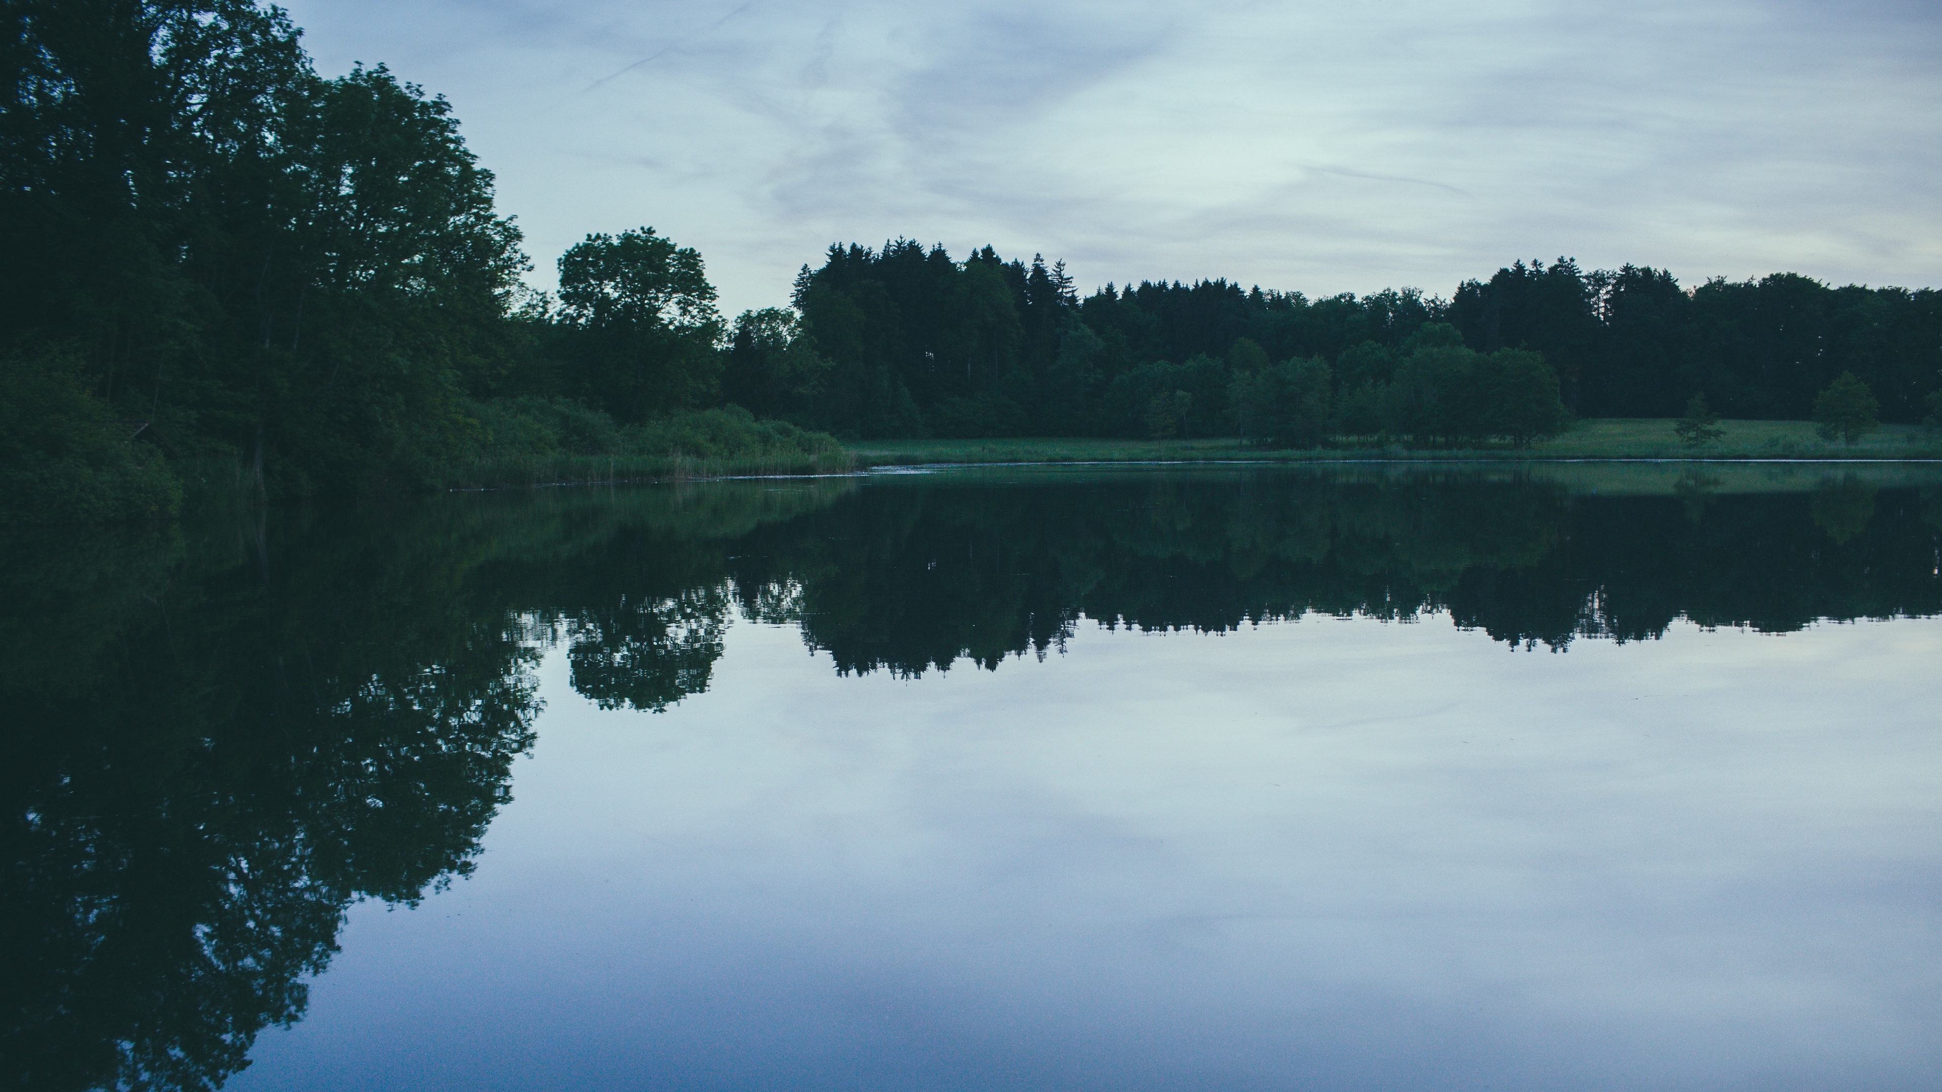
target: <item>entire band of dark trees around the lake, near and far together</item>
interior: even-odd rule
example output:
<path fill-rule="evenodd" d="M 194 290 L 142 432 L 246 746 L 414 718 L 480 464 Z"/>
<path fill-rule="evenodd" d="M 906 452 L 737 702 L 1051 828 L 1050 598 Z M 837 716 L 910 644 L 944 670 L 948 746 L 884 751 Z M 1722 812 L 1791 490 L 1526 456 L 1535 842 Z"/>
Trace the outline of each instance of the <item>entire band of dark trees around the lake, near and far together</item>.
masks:
<path fill-rule="evenodd" d="M 823 468 L 864 437 L 1515 449 L 1695 396 L 1808 418 L 1837 381 L 1880 420 L 1942 418 L 1938 293 L 1798 274 L 1686 288 L 1559 258 L 1447 299 L 1082 295 L 1062 262 L 895 239 L 831 245 L 788 307 L 728 321 L 695 249 L 616 225 L 536 291 L 452 105 L 383 64 L 320 76 L 284 12 L 17 0 L 0 19 L 10 521 L 165 517 L 210 482 L 274 499 L 629 459 Z"/>

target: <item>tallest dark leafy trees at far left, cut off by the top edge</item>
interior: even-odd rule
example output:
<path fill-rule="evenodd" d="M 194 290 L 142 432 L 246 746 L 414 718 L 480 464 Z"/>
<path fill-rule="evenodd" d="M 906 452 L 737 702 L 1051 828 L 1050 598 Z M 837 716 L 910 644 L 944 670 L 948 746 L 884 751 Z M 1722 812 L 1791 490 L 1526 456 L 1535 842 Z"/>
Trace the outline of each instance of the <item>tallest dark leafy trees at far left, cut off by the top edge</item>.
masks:
<path fill-rule="evenodd" d="M 0 101 L 0 317 L 103 418 L 260 480 L 412 480 L 505 365 L 524 266 L 443 99 L 318 78 L 245 0 L 19 0 Z M 14 394 L 6 394 L 14 396 Z M 25 412 L 31 412 L 27 408 Z"/>

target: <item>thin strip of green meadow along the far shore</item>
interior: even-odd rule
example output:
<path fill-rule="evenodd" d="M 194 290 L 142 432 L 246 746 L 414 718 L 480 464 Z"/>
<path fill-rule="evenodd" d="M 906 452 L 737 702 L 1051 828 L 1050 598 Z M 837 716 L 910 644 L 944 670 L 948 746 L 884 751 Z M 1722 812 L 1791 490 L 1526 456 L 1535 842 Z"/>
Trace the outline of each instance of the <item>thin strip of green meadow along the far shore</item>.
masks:
<path fill-rule="evenodd" d="M 1882 426 L 1845 447 L 1824 441 L 1812 422 L 1721 422 L 1726 435 L 1690 449 L 1672 433 L 1670 418 L 1600 418 L 1577 422 L 1565 435 L 1517 451 L 1404 449 L 1354 439 L 1330 447 L 1274 451 L 1231 437 L 1216 439 L 870 439 L 849 445 L 858 466 L 921 466 L 928 462 L 1317 462 L 1338 459 L 1942 459 L 1942 433 L 1919 426 Z"/>

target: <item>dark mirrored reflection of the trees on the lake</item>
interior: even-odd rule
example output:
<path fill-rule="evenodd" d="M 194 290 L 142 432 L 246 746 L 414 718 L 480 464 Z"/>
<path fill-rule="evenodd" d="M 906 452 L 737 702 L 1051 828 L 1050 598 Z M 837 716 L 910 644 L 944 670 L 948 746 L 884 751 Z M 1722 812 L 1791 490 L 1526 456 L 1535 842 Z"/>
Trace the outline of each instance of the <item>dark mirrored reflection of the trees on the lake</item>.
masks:
<path fill-rule="evenodd" d="M 1043 657 L 1082 620 L 1311 610 L 1565 649 L 1682 616 L 1938 614 L 1938 492 L 1895 478 L 1373 470 L 746 482 L 14 540 L 0 1053 L 35 1088 L 218 1084 L 301 1016 L 352 902 L 472 869 L 552 647 L 581 696 L 653 711 L 711 686 L 736 610 L 903 676 Z"/>

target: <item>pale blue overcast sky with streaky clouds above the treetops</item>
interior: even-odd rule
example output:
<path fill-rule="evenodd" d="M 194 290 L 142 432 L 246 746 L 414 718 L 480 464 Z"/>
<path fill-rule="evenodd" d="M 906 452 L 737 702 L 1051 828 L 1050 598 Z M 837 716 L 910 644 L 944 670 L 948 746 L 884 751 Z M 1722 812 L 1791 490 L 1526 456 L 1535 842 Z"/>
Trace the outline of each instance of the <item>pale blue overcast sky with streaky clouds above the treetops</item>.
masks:
<path fill-rule="evenodd" d="M 318 70 L 447 95 L 534 284 L 651 223 L 722 311 L 833 241 L 1086 290 L 1311 295 L 1513 258 L 1942 284 L 1942 0 L 297 0 Z"/>

